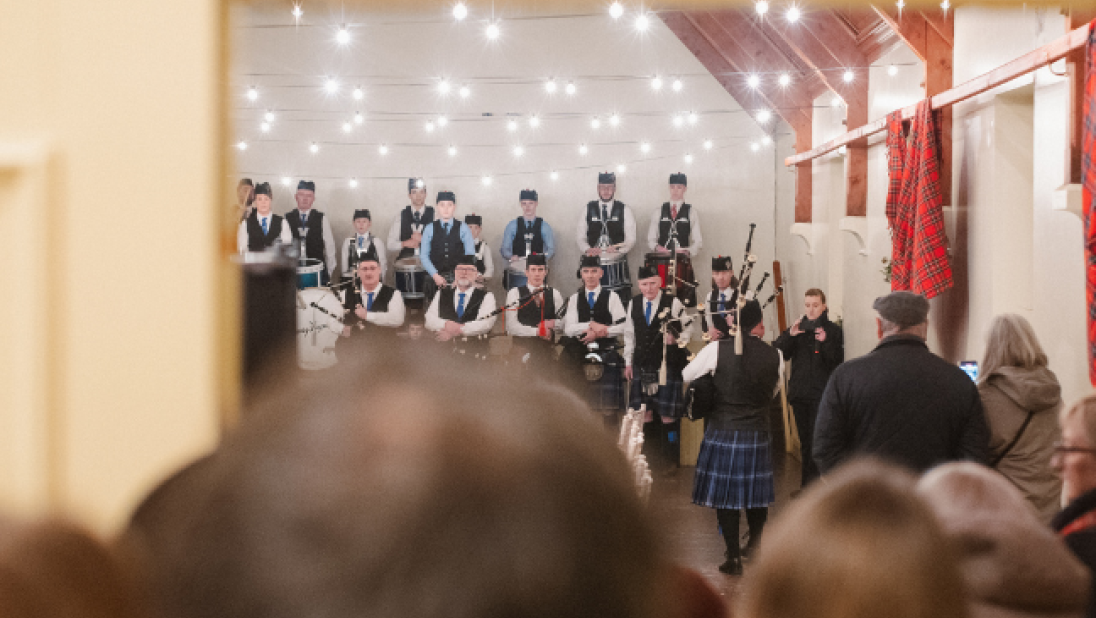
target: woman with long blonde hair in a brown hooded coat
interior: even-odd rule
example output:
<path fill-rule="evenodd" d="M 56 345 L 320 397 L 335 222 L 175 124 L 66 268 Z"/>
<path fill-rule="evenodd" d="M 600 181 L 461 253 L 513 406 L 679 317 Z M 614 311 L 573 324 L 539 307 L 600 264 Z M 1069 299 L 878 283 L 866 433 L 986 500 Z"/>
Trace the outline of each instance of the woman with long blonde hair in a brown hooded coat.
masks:
<path fill-rule="evenodd" d="M 1058 440 L 1062 388 L 1031 324 L 1004 313 L 990 323 L 978 379 L 990 426 L 990 464 L 1013 482 L 1046 524 L 1061 506 L 1050 467 Z"/>

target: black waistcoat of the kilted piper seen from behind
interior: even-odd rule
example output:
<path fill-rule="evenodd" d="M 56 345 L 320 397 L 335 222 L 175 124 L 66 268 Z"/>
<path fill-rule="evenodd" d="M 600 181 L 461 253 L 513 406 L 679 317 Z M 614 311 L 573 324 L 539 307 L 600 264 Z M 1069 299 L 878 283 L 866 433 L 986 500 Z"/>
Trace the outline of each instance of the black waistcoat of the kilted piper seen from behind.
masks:
<path fill-rule="evenodd" d="M 742 356 L 739 356 L 734 354 L 734 337 L 721 340 L 716 365 L 712 426 L 767 432 L 768 408 L 779 371 L 780 353 L 764 341 L 745 335 Z"/>

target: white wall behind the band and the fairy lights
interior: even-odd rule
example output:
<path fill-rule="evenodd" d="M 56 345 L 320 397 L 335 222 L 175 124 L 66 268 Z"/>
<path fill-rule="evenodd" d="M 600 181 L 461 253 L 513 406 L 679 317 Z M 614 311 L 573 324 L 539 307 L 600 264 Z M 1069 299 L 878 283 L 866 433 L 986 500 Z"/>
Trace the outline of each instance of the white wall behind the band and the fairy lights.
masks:
<path fill-rule="evenodd" d="M 760 263 L 764 270 L 772 264 L 775 174 L 780 168 L 776 151 L 772 146 L 751 151 L 750 144 L 760 140 L 762 129 L 658 20 L 644 35 L 637 34 L 630 21 L 616 23 L 607 15 L 504 21 L 503 36 L 489 45 L 475 15 L 460 24 L 452 19 L 412 24 L 399 15 L 347 14 L 346 22 L 363 25 L 352 28 L 350 49 L 339 49 L 333 27 L 342 18 L 311 18 L 310 22 L 306 14 L 302 23 L 324 26 L 249 27 L 288 24 L 292 18 L 287 11 L 260 9 L 236 13 L 237 130 L 249 144 L 238 152 L 238 168 L 256 182 L 275 183 L 276 211 L 293 207 L 297 179 L 312 179 L 317 207 L 333 217 L 340 241 L 351 231 L 353 209 L 362 207 L 372 210 L 374 231 L 387 234 L 408 203 L 407 178 L 422 175 L 427 203 L 438 190 L 449 188 L 457 193 L 458 216 L 469 211 L 483 216 L 483 237 L 496 252 L 506 221 L 520 215 L 518 192 L 536 188 L 539 215 L 557 234 L 550 282 L 570 289 L 578 285 L 575 229 L 585 203 L 596 198 L 596 174 L 625 162 L 618 197 L 635 210 L 641 239 L 629 255 L 633 275 L 648 251 L 650 217 L 669 198 L 667 179 L 677 171 L 688 174 L 687 199 L 701 213 L 705 249 L 696 264 L 705 287 L 712 255 L 730 254 L 739 265 L 750 222 L 758 226 L 754 252 Z M 324 96 L 318 76 L 326 73 L 340 76 L 342 94 Z M 647 79 L 590 78 L 655 73 L 684 76 L 684 90 L 670 91 L 669 79 L 657 93 Z M 426 83 L 435 76 L 446 76 L 455 85 L 467 81 L 471 96 L 461 101 L 425 85 L 407 85 Z M 527 83 L 488 84 L 475 79 L 510 76 Z M 548 95 L 543 88 L 548 76 L 557 76 L 561 87 L 575 79 L 578 94 Z M 365 85 L 366 96 L 355 104 L 350 87 L 356 83 Z M 256 103 L 243 96 L 252 84 L 261 92 Z M 267 108 L 276 111 L 277 119 L 263 136 L 258 127 Z M 344 135 L 341 125 L 355 110 L 364 112 L 366 121 Z M 700 112 L 696 126 L 672 125 L 673 113 L 693 110 Z M 612 112 L 623 114 L 615 129 L 604 123 Z M 423 125 L 429 115 L 442 113 L 450 118 L 448 126 L 427 134 Z M 484 118 L 484 113 L 494 116 Z M 532 113 L 544 118 L 537 129 L 525 124 Z M 523 115 L 516 134 L 506 130 L 505 114 Z M 604 123 L 596 131 L 590 127 L 595 114 Z M 715 142 L 711 151 L 701 147 L 706 138 Z M 313 140 L 323 142 L 315 156 L 307 149 Z M 649 154 L 636 144 L 615 145 L 640 140 L 652 144 Z M 581 142 L 591 145 L 586 157 L 578 153 Z M 391 145 L 387 157 L 378 154 L 378 144 Z M 459 150 L 456 158 L 446 152 L 449 144 Z M 526 149 L 521 159 L 511 152 L 516 144 Z M 683 160 L 686 152 L 695 156 L 692 164 Z M 549 179 L 549 170 L 560 171 L 558 181 Z M 481 183 L 483 174 L 493 175 L 490 186 Z M 277 184 L 282 176 L 293 178 L 293 186 Z M 351 178 L 361 183 L 356 190 L 349 187 Z M 498 254 L 495 262 L 496 266 L 501 262 Z M 501 281 L 493 287 L 501 290 Z"/>

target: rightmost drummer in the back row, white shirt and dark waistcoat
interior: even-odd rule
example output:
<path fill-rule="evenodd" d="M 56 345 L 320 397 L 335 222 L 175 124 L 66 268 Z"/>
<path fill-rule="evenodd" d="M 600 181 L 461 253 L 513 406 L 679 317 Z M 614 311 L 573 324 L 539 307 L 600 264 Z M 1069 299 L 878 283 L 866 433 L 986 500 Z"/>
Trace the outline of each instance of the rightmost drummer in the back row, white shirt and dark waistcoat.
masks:
<path fill-rule="evenodd" d="M 670 202 L 651 217 L 647 242 L 651 250 L 662 254 L 676 254 L 677 268 L 673 274 L 660 273 L 666 286 L 677 289 L 677 297 L 687 307 L 696 305 L 696 277 L 693 275 L 693 256 L 700 252 L 700 215 L 696 207 L 685 203 L 688 179 L 678 172 L 670 174 Z M 672 281 L 671 277 L 682 281 Z"/>

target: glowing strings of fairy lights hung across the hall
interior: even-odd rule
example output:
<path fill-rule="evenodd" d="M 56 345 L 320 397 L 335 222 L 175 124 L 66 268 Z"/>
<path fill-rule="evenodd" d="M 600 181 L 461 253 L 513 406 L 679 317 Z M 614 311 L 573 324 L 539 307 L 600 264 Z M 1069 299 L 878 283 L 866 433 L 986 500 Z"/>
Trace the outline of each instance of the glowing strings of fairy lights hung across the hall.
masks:
<path fill-rule="evenodd" d="M 897 0 L 897 5 L 899 13 L 901 14 L 904 8 L 904 0 Z M 940 4 L 941 9 L 946 12 L 949 8 L 949 0 L 944 0 Z M 768 0 L 756 0 L 754 2 L 754 9 L 757 14 L 757 19 L 764 20 L 768 19 L 773 7 Z M 471 16 L 471 9 L 464 2 L 457 2 L 452 8 L 452 19 L 456 22 L 463 22 Z M 614 1 L 608 7 L 608 16 L 614 21 L 620 21 L 625 19 L 627 11 L 619 1 Z M 301 24 L 301 20 L 305 15 L 304 7 L 300 3 L 295 3 L 290 11 L 293 16 L 293 24 L 259 24 L 251 25 L 248 27 L 258 28 L 272 28 L 272 27 L 310 27 L 310 28 L 332 28 L 334 42 L 339 47 L 347 47 L 354 41 L 356 34 L 355 32 L 361 32 L 366 25 L 386 25 L 385 22 L 377 22 L 370 24 L 362 23 L 341 23 L 334 26 L 331 25 L 310 25 Z M 633 11 L 631 19 L 633 20 L 635 30 L 639 33 L 648 32 L 652 26 L 652 20 L 655 16 L 655 12 L 648 11 L 646 9 L 640 9 Z M 803 9 L 796 3 L 788 3 L 785 7 L 784 19 L 788 24 L 796 24 L 803 16 Z M 604 19 L 604 14 L 575 14 L 575 15 L 550 15 L 550 16 L 535 16 L 535 18 L 510 18 L 507 20 L 502 20 L 495 18 L 492 14 L 490 16 L 484 15 L 481 19 L 483 24 L 483 36 L 489 42 L 499 41 L 504 33 L 505 22 L 509 21 L 525 21 L 525 20 L 541 20 L 541 19 L 559 19 L 559 18 L 601 18 Z M 414 23 L 436 23 L 437 20 L 425 20 L 422 22 Z M 396 22 L 401 25 L 406 25 L 409 22 Z M 900 67 L 907 66 L 901 64 L 890 64 L 886 66 L 881 65 L 869 65 L 867 67 L 837 67 L 837 68 L 820 68 L 812 69 L 814 73 L 835 73 L 832 79 L 841 79 L 845 83 L 850 83 L 857 79 L 857 75 L 863 75 L 866 70 L 878 70 L 886 71 L 889 77 L 894 77 L 899 73 Z M 484 148 L 509 148 L 513 158 L 521 159 L 526 154 L 528 150 L 532 149 L 547 149 L 547 148 L 568 148 L 573 149 L 580 157 L 586 158 L 591 154 L 592 149 L 602 149 L 604 147 L 620 147 L 628 146 L 633 147 L 637 152 L 637 159 L 627 162 L 617 163 L 615 167 L 618 172 L 624 172 L 629 163 L 640 163 L 644 161 L 653 161 L 667 159 L 672 156 L 652 156 L 659 147 L 665 147 L 667 145 L 673 146 L 685 146 L 685 151 L 683 153 L 676 154 L 681 157 L 685 163 L 692 163 L 694 160 L 693 150 L 698 152 L 710 152 L 718 150 L 726 150 L 733 146 L 738 146 L 742 142 L 747 142 L 749 148 L 753 152 L 758 152 L 763 148 L 768 147 L 773 144 L 774 136 L 776 136 L 776 129 L 770 124 L 774 117 L 783 112 L 779 107 L 760 107 L 755 110 L 712 110 L 712 111 L 697 111 L 689 110 L 682 105 L 680 111 L 666 113 L 664 111 L 657 112 L 629 112 L 621 113 L 617 111 L 608 111 L 603 113 L 582 113 L 582 112 L 562 112 L 562 113 L 527 113 L 527 114 L 445 114 L 445 113 L 426 113 L 426 112 L 393 112 L 393 111 L 369 111 L 368 118 L 366 113 L 361 111 L 361 106 L 364 105 L 367 99 L 367 92 L 370 90 L 380 89 L 432 89 L 437 96 L 442 99 L 454 98 L 456 100 L 469 100 L 473 96 L 476 89 L 480 87 L 493 87 L 493 85 L 507 85 L 507 87 L 533 87 L 543 89 L 544 93 L 549 98 L 562 96 L 569 100 L 580 95 L 580 87 L 583 83 L 593 84 L 597 82 L 642 82 L 649 83 L 651 91 L 653 92 L 666 92 L 671 94 L 681 95 L 684 93 L 686 88 L 686 82 L 693 79 L 711 79 L 713 73 L 673 73 L 673 75 L 587 75 L 587 76 L 544 76 L 540 78 L 530 78 L 529 76 L 478 76 L 478 77 L 464 77 L 460 79 L 453 79 L 447 76 L 438 76 L 433 78 L 418 78 L 408 79 L 401 76 L 376 76 L 376 75 L 344 75 L 344 76 L 313 76 L 304 73 L 272 73 L 272 72 L 252 72 L 252 73 L 241 73 L 240 78 L 251 81 L 251 85 L 248 85 L 243 98 L 247 103 L 242 107 L 248 112 L 261 111 L 262 116 L 259 122 L 259 134 L 258 139 L 261 144 L 289 144 L 298 145 L 298 147 L 307 149 L 307 152 L 311 154 L 317 154 L 321 149 L 324 148 L 342 148 L 342 147 L 366 147 L 375 148 L 378 156 L 385 157 L 392 152 L 393 149 L 404 149 L 404 148 L 444 148 L 446 154 L 449 158 L 457 157 L 461 150 L 465 149 L 484 149 Z M 721 72 L 715 75 L 717 78 L 731 78 L 731 79 L 742 79 L 752 90 L 762 90 L 765 88 L 779 88 L 787 89 L 794 85 L 796 78 L 787 71 L 741 71 L 741 72 Z M 278 83 L 266 83 L 260 88 L 256 81 L 278 81 Z M 368 85 L 366 85 L 368 84 Z M 342 98 L 343 100 L 349 99 L 355 110 L 352 113 L 339 112 L 339 111 L 318 111 L 318 110 L 296 110 L 292 107 L 278 108 L 277 106 L 264 106 L 264 99 L 266 95 L 264 93 L 274 93 L 277 91 L 294 91 L 294 90 L 313 90 L 322 93 L 327 98 Z M 271 99 L 273 100 L 273 95 Z M 832 107 L 844 106 L 844 101 L 841 96 L 835 95 L 831 100 Z M 562 144 L 562 142 L 530 142 L 530 144 L 517 144 L 517 145 L 498 145 L 498 144 L 456 144 L 450 142 L 448 145 L 438 145 L 434 142 L 414 142 L 414 141 L 403 141 L 403 142 L 388 142 L 388 141 L 369 141 L 369 140 L 351 140 L 347 141 L 346 138 L 352 138 L 352 136 L 359 130 L 363 125 L 367 122 L 373 123 L 421 123 L 423 133 L 432 138 L 436 138 L 442 135 L 445 129 L 450 124 L 460 123 L 490 123 L 500 125 L 502 128 L 500 130 L 505 131 L 504 135 L 515 136 L 520 130 L 525 129 L 530 134 L 537 129 L 541 129 L 546 124 L 560 123 L 560 122 L 585 122 L 589 123 L 589 127 L 593 131 L 613 131 L 621 127 L 628 121 L 639 121 L 638 124 L 648 125 L 652 118 L 662 117 L 664 122 L 669 123 L 675 129 L 687 130 L 696 127 L 700 124 L 701 117 L 718 116 L 718 115 L 742 115 L 750 114 L 754 121 L 762 128 L 762 135 L 757 136 L 722 136 L 722 137 L 688 137 L 682 139 L 669 139 L 669 140 L 613 140 L 613 141 L 581 141 L 578 144 Z M 288 116 L 288 118 L 287 118 Z M 332 117 L 334 116 L 334 117 Z M 253 117 L 241 118 L 242 125 L 247 126 L 246 123 L 254 122 Z M 343 135 L 343 140 L 323 140 L 315 139 L 305 142 L 299 142 L 297 140 L 284 140 L 275 139 L 272 137 L 272 133 L 275 129 L 275 125 L 278 123 L 312 123 L 316 125 L 338 125 L 341 134 Z M 726 144 L 726 142 L 732 144 Z M 717 145 L 719 142 L 719 145 Z M 248 150 L 251 146 L 248 139 L 241 138 L 235 145 L 240 151 Z M 583 170 L 591 168 L 598 168 L 602 165 L 587 165 L 580 164 L 574 167 L 574 170 Z M 612 168 L 608 165 L 607 168 Z M 503 175 L 514 175 L 517 173 L 529 174 L 529 173 L 547 173 L 552 180 L 557 180 L 559 176 L 560 169 L 544 170 L 540 172 L 513 172 L 496 174 Z M 380 176 L 378 176 L 379 179 Z M 457 175 L 452 178 L 470 178 L 467 175 Z M 490 184 L 491 175 L 483 175 L 483 184 Z M 330 180 L 330 179 L 329 179 Z M 362 180 L 365 180 L 364 178 Z M 357 186 L 358 179 L 350 179 L 349 184 Z"/>

